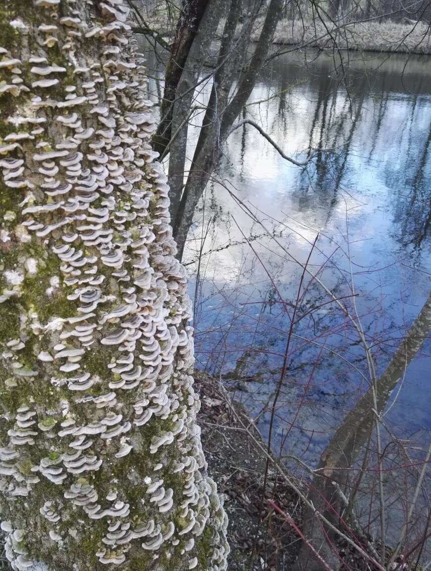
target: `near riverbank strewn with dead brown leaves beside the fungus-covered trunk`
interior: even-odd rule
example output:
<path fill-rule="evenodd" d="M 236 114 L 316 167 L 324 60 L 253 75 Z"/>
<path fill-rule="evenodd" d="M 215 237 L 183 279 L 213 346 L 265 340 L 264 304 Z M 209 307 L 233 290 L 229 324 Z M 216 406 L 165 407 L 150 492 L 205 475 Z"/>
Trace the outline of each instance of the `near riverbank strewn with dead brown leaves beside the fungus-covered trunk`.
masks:
<path fill-rule="evenodd" d="M 195 372 L 195 391 L 201 401 L 198 423 L 208 473 L 217 482 L 229 518 L 229 571 L 288 569 L 295 561 L 299 538 L 267 500 L 299 522 L 299 498 L 270 468 L 262 504 L 266 460 L 260 446 L 265 449 L 266 444 L 260 433 L 223 385 L 199 371 Z M 296 478 L 295 483 L 303 485 Z M 261 506 L 262 521 L 256 534 Z"/>

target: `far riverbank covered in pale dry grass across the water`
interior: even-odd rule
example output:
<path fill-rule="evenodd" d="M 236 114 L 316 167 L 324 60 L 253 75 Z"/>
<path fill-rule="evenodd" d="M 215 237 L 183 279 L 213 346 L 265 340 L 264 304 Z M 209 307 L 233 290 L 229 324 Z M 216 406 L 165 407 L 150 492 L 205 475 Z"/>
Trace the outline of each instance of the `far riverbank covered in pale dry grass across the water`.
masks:
<path fill-rule="evenodd" d="M 217 38 L 223 34 L 224 21 L 217 29 Z M 263 19 L 256 21 L 251 40 L 259 39 Z M 172 37 L 174 27 L 167 21 L 156 19 L 150 22 L 151 30 Z M 148 34 L 149 29 L 134 28 L 136 33 Z M 237 26 L 236 35 L 241 31 Z M 368 21 L 333 26 L 331 22 L 307 20 L 281 20 L 276 27 L 273 44 L 279 46 L 318 47 L 323 50 L 374 51 L 380 53 L 431 54 L 431 28 L 426 22 L 398 23 L 392 21 Z"/>

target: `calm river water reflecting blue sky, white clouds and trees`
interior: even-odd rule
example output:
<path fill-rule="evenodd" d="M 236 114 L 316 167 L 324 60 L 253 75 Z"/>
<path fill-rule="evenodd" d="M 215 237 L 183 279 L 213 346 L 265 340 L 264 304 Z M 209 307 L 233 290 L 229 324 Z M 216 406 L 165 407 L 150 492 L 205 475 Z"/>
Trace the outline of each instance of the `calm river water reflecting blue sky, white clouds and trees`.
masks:
<path fill-rule="evenodd" d="M 157 67 L 154 54 L 148 67 Z M 428 296 L 431 60 L 352 53 L 345 70 L 342 82 L 332 58 L 313 53 L 285 55 L 265 69 L 244 116 L 287 155 L 305 160 L 309 147 L 317 151 L 308 168 L 299 168 L 253 127 L 233 132 L 217 174 L 224 186 L 207 189 L 184 255 L 195 299 L 197 366 L 235 389 L 264 435 L 269 413 L 262 411 L 280 378 L 292 316 L 280 299 L 295 301 L 302 270 L 292 257 L 305 263 L 317 232 L 308 267 L 339 297 L 352 295 L 353 276 L 378 371 Z M 198 103 L 210 85 L 200 89 Z M 150 90 L 156 96 L 160 85 L 151 81 Z M 189 155 L 196 132 L 191 129 Z M 273 447 L 315 464 L 367 388 L 367 372 L 364 351 L 336 304 L 326 303 L 309 278 L 301 292 Z M 393 393 L 388 439 L 411 437 L 423 447 L 429 438 L 430 349 L 425 343 Z"/>

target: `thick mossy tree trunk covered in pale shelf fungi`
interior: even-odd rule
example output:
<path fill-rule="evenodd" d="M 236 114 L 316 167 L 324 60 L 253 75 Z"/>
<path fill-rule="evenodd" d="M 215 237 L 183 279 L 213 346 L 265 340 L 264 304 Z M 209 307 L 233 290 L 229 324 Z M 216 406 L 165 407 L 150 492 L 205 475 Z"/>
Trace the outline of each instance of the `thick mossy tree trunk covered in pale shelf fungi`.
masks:
<path fill-rule="evenodd" d="M 219 570 L 192 329 L 123 0 L 0 0 L 0 520 L 13 569 Z"/>

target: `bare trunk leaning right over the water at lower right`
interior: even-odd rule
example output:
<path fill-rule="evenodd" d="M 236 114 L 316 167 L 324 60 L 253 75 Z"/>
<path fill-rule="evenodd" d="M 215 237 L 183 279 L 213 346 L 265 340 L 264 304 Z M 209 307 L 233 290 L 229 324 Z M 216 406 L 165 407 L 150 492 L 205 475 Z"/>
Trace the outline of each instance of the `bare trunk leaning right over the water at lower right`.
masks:
<path fill-rule="evenodd" d="M 390 393 L 396 387 L 398 381 L 405 372 L 406 367 L 419 351 L 422 343 L 431 329 L 431 293 L 425 301 L 419 315 L 413 321 L 410 329 L 394 352 L 388 367 L 376 381 L 376 402 L 377 412 L 380 413 L 385 408 Z M 355 460 L 364 451 L 366 443 L 376 422 L 376 412 L 374 412 L 373 388 L 360 398 L 355 408 L 343 420 L 335 435 L 329 441 L 320 457 L 318 468 L 310 486 L 309 500 L 315 508 L 323 514 L 333 525 L 339 525 L 339 514 L 343 509 L 340 502 L 338 488 L 343 493 L 348 487 L 347 468 L 351 467 Z M 333 509 L 330 509 L 332 506 Z M 339 559 L 328 545 L 322 526 L 316 521 L 311 509 L 305 509 L 303 533 L 308 541 L 311 541 L 314 548 L 327 563 L 336 569 Z M 325 533 L 332 540 L 333 533 L 325 529 Z M 307 571 L 320 571 L 323 565 L 313 557 L 307 545 L 303 545 L 300 550 L 296 569 L 307 569 Z"/>

